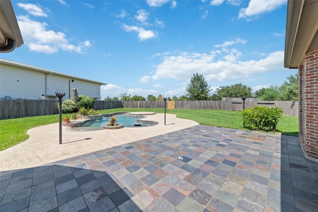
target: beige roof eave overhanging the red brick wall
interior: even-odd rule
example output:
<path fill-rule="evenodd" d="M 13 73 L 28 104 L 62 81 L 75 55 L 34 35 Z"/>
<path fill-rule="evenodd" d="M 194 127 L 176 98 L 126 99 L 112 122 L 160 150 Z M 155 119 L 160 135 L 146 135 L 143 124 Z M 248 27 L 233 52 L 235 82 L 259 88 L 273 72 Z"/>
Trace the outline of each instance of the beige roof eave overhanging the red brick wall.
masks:
<path fill-rule="evenodd" d="M 318 0 L 288 0 L 284 67 L 297 69 L 318 49 Z"/>

